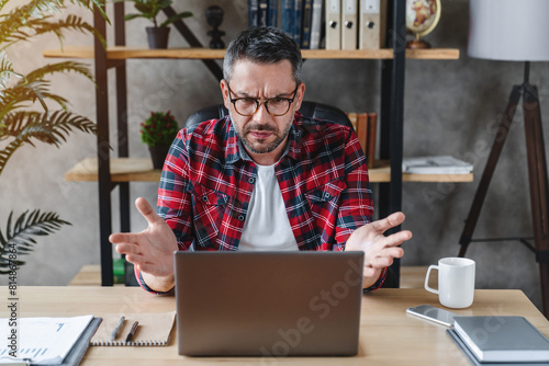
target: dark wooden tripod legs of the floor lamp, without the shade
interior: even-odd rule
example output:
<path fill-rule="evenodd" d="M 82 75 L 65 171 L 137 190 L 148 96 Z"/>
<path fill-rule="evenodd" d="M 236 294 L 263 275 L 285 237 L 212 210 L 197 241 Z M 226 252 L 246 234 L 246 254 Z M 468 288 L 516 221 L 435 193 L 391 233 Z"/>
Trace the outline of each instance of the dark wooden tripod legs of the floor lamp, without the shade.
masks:
<path fill-rule="evenodd" d="M 495 135 L 492 150 L 488 158 L 486 167 L 482 173 L 479 187 L 477 188 L 471 209 L 466 220 L 466 226 L 459 239 L 461 245 L 459 256 L 464 256 L 469 244 L 475 241 L 518 240 L 525 244 L 536 254 L 536 261 L 539 263 L 544 314 L 546 318 L 549 318 L 549 190 L 547 185 L 547 163 L 538 90 L 535 85 L 529 83 L 529 71 L 530 62 L 526 61 L 523 84 L 514 85 L 511 91 L 505 113 L 500 122 L 497 134 Z M 520 96 L 523 98 L 524 127 L 526 134 L 534 245 L 528 242 L 528 238 L 472 239 L 490 181 L 492 180 L 495 165 L 497 164 L 503 145 L 507 138 L 511 123 L 513 122 Z"/>

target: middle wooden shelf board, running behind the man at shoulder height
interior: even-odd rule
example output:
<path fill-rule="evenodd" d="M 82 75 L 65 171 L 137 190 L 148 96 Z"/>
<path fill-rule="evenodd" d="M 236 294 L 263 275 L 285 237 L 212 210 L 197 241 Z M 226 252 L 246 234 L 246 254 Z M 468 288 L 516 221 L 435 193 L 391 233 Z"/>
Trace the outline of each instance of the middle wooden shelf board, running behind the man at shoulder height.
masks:
<path fill-rule="evenodd" d="M 150 159 L 115 158 L 111 159 L 111 180 L 113 182 L 159 182 L 160 170 L 154 170 Z M 388 162 L 377 161 L 369 170 L 370 182 L 391 181 L 391 168 Z M 65 173 L 65 180 L 71 182 L 93 182 L 98 180 L 98 160 L 88 158 Z M 404 182 L 455 182 L 473 181 L 473 174 L 402 174 Z"/>

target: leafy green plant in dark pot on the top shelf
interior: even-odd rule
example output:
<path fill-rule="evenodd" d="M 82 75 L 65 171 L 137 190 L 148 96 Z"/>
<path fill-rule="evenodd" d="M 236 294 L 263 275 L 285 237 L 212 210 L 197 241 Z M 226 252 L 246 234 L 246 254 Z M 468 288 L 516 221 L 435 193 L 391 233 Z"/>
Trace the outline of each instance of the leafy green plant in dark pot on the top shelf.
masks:
<path fill-rule="evenodd" d="M 154 26 L 147 26 L 147 36 L 148 36 L 148 47 L 149 48 L 168 48 L 168 36 L 169 36 L 169 26 L 175 21 L 178 21 L 183 18 L 192 16 L 190 11 L 183 11 L 181 13 L 177 13 L 173 16 L 168 18 L 164 22 L 159 22 L 157 20 L 158 13 L 171 5 L 171 0 L 114 0 L 115 2 L 126 1 L 133 2 L 135 10 L 138 13 L 130 13 L 124 16 L 126 21 L 136 18 L 145 18 L 153 22 Z"/>

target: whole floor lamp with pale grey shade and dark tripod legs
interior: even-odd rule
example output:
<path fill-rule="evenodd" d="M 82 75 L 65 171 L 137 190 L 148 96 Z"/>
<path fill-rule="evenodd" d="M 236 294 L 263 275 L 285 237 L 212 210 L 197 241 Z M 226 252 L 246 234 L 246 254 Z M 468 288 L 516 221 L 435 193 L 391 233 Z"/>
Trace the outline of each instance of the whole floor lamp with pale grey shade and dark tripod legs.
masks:
<path fill-rule="evenodd" d="M 527 239 L 518 239 L 536 254 L 540 268 L 541 297 L 546 317 L 549 317 L 549 190 L 538 91 L 529 82 L 529 71 L 530 61 L 549 60 L 548 14 L 549 1 L 547 0 L 470 1 L 469 56 L 491 60 L 522 61 L 524 62 L 524 80 L 522 84 L 514 85 L 511 91 L 459 241 L 461 244 L 459 256 L 466 255 L 467 248 L 472 241 L 485 241 L 473 240 L 472 235 L 522 98 L 534 245 Z"/>

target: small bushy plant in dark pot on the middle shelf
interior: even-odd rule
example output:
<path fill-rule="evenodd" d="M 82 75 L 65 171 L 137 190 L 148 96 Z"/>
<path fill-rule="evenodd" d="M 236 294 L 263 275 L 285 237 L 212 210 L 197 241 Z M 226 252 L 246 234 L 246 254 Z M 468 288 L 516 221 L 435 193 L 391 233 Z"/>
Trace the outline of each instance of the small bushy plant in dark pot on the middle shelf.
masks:
<path fill-rule="evenodd" d="M 163 168 L 178 131 L 179 125 L 170 111 L 150 112 L 150 116 L 141 124 L 141 139 L 148 146 L 154 169 Z"/>

